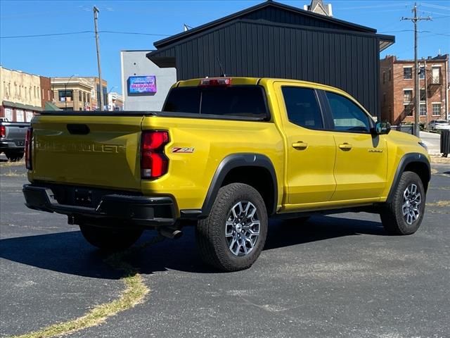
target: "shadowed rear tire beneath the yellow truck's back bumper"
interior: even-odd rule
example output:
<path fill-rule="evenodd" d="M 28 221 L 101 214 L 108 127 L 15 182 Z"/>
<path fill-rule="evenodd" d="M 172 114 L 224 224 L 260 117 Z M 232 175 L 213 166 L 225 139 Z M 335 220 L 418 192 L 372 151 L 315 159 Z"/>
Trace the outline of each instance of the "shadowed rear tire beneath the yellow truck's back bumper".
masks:
<path fill-rule="evenodd" d="M 120 251 L 133 245 L 143 232 L 142 229 L 123 229 L 96 227 L 94 225 L 79 225 L 84 238 L 98 249 L 105 251 Z"/>

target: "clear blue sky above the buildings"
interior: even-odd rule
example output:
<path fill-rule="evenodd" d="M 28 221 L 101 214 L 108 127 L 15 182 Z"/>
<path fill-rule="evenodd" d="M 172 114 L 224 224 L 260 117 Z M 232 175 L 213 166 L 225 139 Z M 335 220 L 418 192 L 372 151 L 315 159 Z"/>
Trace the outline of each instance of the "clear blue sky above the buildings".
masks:
<path fill-rule="evenodd" d="M 23 1 L 0 0 L 0 63 L 3 67 L 47 77 L 97 76 L 94 15 L 100 9 L 98 30 L 102 77 L 108 92 L 122 92 L 120 51 L 153 50 L 153 42 L 212 20 L 260 4 L 264 0 L 165 0 L 165 1 Z M 309 0 L 278 0 L 303 8 Z M 396 42 L 380 54 L 414 57 L 413 2 L 324 1 L 340 20 L 394 35 Z M 420 21 L 418 56 L 450 54 L 450 0 L 417 1 Z M 85 32 L 87 31 L 87 32 Z M 65 34 L 83 32 L 77 34 Z M 126 34 L 127 33 L 127 34 Z M 131 34 L 130 34 L 131 33 Z M 26 35 L 52 35 L 23 37 Z"/>

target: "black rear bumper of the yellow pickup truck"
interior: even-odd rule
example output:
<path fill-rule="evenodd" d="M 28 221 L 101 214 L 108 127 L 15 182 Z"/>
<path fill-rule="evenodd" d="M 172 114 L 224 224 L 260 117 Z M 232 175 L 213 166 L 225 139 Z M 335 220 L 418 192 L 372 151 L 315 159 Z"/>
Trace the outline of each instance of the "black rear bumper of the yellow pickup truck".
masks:
<path fill-rule="evenodd" d="M 70 189 L 70 192 L 77 192 L 75 188 L 67 189 Z M 65 194 L 70 192 L 65 192 Z M 58 196 L 58 189 L 51 189 L 50 187 L 25 184 L 23 194 L 25 205 L 28 208 L 49 213 L 62 213 L 72 217 L 75 223 L 80 219 L 89 219 L 91 222 L 118 219 L 143 227 L 164 227 L 173 225 L 176 221 L 174 201 L 167 196 L 102 194 L 98 199 L 94 198 L 94 201 L 98 201 L 94 203 L 94 206 L 79 206 L 72 203 L 58 203 L 58 199 L 61 199 Z"/>

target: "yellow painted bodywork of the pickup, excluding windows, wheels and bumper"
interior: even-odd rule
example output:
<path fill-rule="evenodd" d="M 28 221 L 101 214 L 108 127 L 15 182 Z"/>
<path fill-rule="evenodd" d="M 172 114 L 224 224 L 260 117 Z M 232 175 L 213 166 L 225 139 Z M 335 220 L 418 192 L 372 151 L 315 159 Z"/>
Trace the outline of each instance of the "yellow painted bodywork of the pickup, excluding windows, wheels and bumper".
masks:
<path fill-rule="evenodd" d="M 200 80 L 195 79 L 177 82 L 174 87 L 198 84 Z M 404 154 L 414 152 L 429 158 L 418 139 L 408 134 L 390 132 L 376 137 L 375 142 L 371 134 L 309 130 L 289 122 L 281 92 L 283 85 L 328 90 L 354 101 L 339 89 L 297 80 L 233 77 L 232 85 L 236 84 L 258 84 L 264 88 L 270 121 L 145 114 L 37 115 L 32 121 L 33 170 L 28 172 L 28 178 L 30 182 L 173 196 L 179 215 L 180 210 L 202 208 L 214 173 L 226 156 L 262 154 L 270 159 L 276 172 L 277 210 L 286 213 L 385 201 Z M 70 123 L 88 125 L 89 134 L 70 134 Z M 141 180 L 142 130 L 169 132 L 169 144 L 165 146 L 168 173 L 156 180 Z M 298 142 L 308 146 L 295 149 L 293 144 Z M 351 150 L 339 148 L 345 142 L 352 144 Z M 174 147 L 194 150 L 174 153 Z"/>

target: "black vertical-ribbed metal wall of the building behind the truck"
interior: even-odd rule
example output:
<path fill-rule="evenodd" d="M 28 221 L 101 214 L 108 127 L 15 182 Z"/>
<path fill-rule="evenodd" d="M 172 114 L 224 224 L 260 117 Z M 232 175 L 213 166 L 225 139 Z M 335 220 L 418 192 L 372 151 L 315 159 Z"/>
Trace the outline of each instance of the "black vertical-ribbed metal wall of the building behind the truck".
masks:
<path fill-rule="evenodd" d="M 236 22 L 188 39 L 160 55 L 176 57 L 179 80 L 219 76 L 219 57 L 229 75 L 330 84 L 378 114 L 379 47 L 375 35 Z"/>

